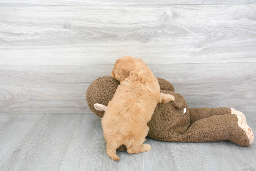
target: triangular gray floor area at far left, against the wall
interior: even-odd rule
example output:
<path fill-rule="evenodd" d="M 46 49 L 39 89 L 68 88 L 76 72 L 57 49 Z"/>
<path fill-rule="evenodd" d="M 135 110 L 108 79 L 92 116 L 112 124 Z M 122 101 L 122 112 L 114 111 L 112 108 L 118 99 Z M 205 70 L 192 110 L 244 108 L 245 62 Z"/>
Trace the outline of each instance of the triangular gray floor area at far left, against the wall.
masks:
<path fill-rule="evenodd" d="M 29 133 L 42 115 L 33 114 L 0 114 L 0 166 L 15 151 L 22 139 Z"/>

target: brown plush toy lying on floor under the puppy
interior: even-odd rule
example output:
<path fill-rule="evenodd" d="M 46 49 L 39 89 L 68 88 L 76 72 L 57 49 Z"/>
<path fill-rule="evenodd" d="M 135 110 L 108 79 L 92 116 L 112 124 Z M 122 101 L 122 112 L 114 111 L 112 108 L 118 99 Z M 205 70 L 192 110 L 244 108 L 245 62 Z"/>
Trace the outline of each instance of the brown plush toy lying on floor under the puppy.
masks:
<path fill-rule="evenodd" d="M 175 97 L 174 102 L 159 103 L 148 122 L 148 138 L 162 141 L 205 142 L 230 140 L 241 146 L 252 144 L 254 134 L 243 113 L 232 108 L 188 108 L 185 99 L 174 93 L 173 85 L 157 78 L 161 93 Z M 103 117 L 108 102 L 120 85 L 111 76 L 94 80 L 86 91 L 89 108 Z M 126 151 L 124 145 L 118 151 Z"/>

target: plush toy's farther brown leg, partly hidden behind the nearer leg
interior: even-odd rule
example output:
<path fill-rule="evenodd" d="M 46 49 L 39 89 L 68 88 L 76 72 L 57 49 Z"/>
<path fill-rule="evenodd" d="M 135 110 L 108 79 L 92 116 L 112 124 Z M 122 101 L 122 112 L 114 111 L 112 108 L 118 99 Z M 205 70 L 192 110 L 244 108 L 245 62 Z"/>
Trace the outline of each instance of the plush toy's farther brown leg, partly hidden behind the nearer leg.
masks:
<path fill-rule="evenodd" d="M 231 114 L 230 108 L 189 108 L 190 124 L 215 115 Z"/>

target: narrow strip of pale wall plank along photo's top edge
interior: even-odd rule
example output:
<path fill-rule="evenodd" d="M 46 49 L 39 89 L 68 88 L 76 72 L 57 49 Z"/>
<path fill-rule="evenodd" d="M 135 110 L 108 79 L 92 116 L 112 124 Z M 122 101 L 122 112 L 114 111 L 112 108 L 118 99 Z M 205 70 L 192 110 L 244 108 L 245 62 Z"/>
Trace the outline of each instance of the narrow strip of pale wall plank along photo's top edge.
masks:
<path fill-rule="evenodd" d="M 175 4 L 256 4 L 255 0 L 2 0 L 0 6 L 31 6 L 31 5 L 175 5 Z"/>

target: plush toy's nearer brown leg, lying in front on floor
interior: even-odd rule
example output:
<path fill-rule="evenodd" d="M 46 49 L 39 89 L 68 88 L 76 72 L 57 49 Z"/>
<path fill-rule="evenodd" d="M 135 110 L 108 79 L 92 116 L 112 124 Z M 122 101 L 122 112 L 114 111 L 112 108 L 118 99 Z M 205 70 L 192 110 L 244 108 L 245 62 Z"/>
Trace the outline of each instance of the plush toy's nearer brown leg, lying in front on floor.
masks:
<path fill-rule="evenodd" d="M 242 117 L 234 114 L 215 115 L 195 121 L 182 135 L 183 142 L 205 142 L 230 140 L 238 145 L 249 146 L 253 142 L 253 132 L 251 136 L 246 134 L 245 129 L 238 123 L 242 122 Z M 251 130 L 251 129 L 250 129 Z"/>

